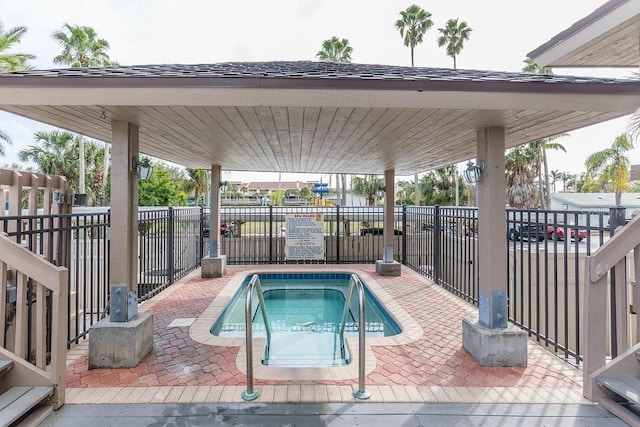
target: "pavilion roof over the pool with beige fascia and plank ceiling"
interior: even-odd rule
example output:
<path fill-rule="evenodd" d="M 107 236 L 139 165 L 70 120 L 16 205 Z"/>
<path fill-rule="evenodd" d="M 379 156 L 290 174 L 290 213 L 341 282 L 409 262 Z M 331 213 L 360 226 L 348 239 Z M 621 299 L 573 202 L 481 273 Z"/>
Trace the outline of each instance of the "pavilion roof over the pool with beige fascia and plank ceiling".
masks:
<path fill-rule="evenodd" d="M 278 64 L 290 73 L 5 74 L 0 109 L 107 142 L 112 120 L 129 121 L 141 152 L 192 168 L 411 175 L 475 157 L 480 128 L 504 126 L 510 147 L 640 107 L 634 81 L 357 64 L 312 76 L 326 66 Z"/>

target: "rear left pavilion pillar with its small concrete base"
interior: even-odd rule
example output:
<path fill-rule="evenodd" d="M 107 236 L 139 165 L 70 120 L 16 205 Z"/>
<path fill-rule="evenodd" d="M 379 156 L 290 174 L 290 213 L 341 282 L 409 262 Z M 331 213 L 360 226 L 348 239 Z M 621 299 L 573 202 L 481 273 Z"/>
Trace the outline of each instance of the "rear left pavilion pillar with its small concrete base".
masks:
<path fill-rule="evenodd" d="M 227 271 L 227 256 L 220 254 L 220 183 L 222 168 L 211 165 L 211 215 L 209 217 L 209 256 L 202 259 L 203 278 L 222 277 Z"/>

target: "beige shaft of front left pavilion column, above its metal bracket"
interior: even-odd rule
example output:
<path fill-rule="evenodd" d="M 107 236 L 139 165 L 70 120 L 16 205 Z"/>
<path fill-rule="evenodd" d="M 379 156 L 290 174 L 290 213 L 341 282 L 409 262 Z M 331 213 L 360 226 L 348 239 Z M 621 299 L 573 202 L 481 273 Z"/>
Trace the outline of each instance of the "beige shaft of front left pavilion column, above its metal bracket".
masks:
<path fill-rule="evenodd" d="M 138 156 L 138 126 L 111 122 L 113 167 L 111 172 L 111 263 L 112 284 L 137 289 L 138 179 L 133 159 Z"/>

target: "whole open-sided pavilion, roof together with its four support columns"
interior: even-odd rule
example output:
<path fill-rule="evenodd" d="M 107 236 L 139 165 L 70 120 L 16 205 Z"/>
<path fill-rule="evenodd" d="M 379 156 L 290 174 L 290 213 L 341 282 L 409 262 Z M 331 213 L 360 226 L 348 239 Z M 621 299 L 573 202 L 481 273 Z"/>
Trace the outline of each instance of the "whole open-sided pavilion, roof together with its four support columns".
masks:
<path fill-rule="evenodd" d="M 504 150 L 629 114 L 638 108 L 639 94 L 636 81 L 325 62 L 121 66 L 0 76 L 3 110 L 112 143 L 110 280 L 129 291 L 136 286 L 139 152 L 211 169 L 213 230 L 220 222 L 222 170 L 384 174 L 384 242 L 389 246 L 397 244 L 389 209 L 395 175 L 477 158 L 484 162 L 478 251 L 506 254 L 507 242 L 492 238 L 504 235 Z M 216 235 L 203 260 L 205 276 L 225 274 Z M 479 321 L 473 316 L 463 323 L 465 348 L 482 365 L 495 363 L 487 356 L 493 350 L 482 341 L 483 328 L 497 342 L 505 332 L 515 336 L 507 331 L 506 274 L 506 256 L 481 260 Z M 126 318 L 126 305 L 121 309 Z M 128 356 L 134 362 L 151 345 L 151 316 L 141 316 L 143 326 L 134 328 L 147 331 L 147 344 L 142 353 Z M 136 322 L 135 315 L 129 317 L 123 323 Z M 514 354 L 499 358 L 506 366 L 526 364 L 526 344 L 519 336 L 509 346 Z"/>

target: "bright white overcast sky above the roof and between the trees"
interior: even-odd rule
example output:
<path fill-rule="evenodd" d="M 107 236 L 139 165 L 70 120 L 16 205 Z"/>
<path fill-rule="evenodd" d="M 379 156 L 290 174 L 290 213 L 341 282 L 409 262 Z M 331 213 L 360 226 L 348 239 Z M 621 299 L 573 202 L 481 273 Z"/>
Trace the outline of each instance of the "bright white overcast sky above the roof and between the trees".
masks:
<path fill-rule="evenodd" d="M 438 28 L 451 18 L 473 29 L 457 58 L 459 69 L 519 72 L 527 52 L 591 13 L 605 0 L 521 2 L 514 0 L 431 0 L 415 3 L 432 14 L 433 27 L 415 48 L 415 65 L 452 68 L 438 47 Z M 52 39 L 65 23 L 93 27 L 110 44 L 121 65 L 202 64 L 236 61 L 317 60 L 322 42 L 346 38 L 352 62 L 410 66 L 394 23 L 412 1 L 397 0 L 20 0 L 0 2 L 4 30 L 27 27 L 13 51 L 36 55 L 37 69 L 60 68 L 61 51 Z M 556 69 L 555 74 L 628 78 L 638 70 Z M 579 173 L 586 157 L 602 150 L 626 130 L 628 117 L 572 131 L 557 142 L 567 149 L 549 153 L 550 170 Z M 0 165 L 18 162 L 17 153 L 33 144 L 33 133 L 53 130 L 39 122 L 0 112 L 0 129 L 13 141 Z M 640 146 L 640 142 L 636 144 Z M 640 147 L 631 153 L 640 161 Z M 223 179 L 277 180 L 277 174 L 224 172 Z M 282 180 L 323 179 L 282 174 Z M 402 177 L 398 177 L 402 178 Z M 407 177 L 407 179 L 411 179 Z"/>

